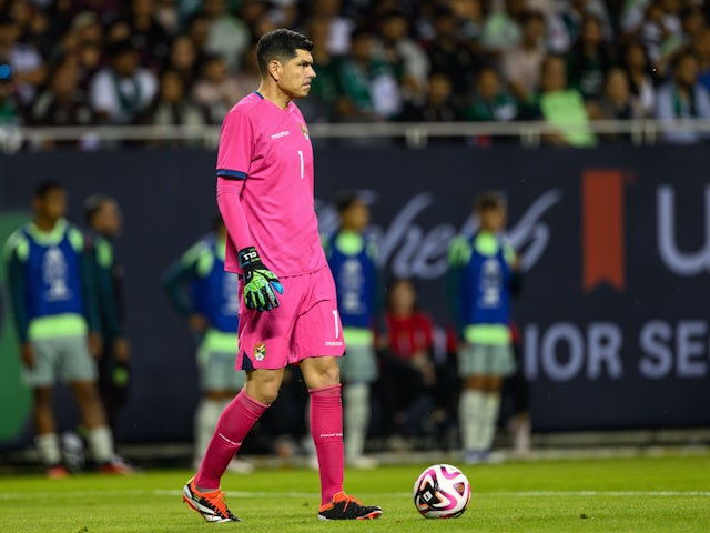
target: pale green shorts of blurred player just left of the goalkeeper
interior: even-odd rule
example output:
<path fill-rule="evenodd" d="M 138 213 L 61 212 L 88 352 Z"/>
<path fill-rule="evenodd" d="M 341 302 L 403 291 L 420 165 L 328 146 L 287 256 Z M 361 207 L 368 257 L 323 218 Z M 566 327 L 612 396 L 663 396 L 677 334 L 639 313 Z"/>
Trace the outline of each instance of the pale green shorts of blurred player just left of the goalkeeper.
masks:
<path fill-rule="evenodd" d="M 210 330 L 197 349 L 200 388 L 203 392 L 239 391 L 244 386 L 244 371 L 236 363 L 236 333 Z"/>

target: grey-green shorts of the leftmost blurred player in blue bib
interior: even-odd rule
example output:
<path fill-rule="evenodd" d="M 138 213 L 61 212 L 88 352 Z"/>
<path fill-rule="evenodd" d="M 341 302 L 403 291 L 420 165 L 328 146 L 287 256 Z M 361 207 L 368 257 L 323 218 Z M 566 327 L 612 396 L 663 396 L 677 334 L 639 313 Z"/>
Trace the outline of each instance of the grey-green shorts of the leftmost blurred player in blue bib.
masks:
<path fill-rule="evenodd" d="M 34 368 L 22 369 L 24 382 L 32 388 L 51 386 L 61 380 L 97 381 L 97 362 L 89 353 L 87 336 L 60 336 L 30 341 Z"/>

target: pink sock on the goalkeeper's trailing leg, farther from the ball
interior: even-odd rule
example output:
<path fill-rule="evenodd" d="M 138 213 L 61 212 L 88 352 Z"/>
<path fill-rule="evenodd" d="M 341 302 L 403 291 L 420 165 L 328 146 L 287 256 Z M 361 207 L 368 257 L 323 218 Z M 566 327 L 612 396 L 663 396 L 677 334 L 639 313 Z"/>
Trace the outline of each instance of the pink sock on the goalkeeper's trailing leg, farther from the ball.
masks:
<path fill-rule="evenodd" d="M 242 441 L 267 408 L 267 404 L 248 396 L 244 389 L 224 408 L 195 476 L 199 487 L 220 487 L 220 480 L 230 461 L 234 459 Z"/>

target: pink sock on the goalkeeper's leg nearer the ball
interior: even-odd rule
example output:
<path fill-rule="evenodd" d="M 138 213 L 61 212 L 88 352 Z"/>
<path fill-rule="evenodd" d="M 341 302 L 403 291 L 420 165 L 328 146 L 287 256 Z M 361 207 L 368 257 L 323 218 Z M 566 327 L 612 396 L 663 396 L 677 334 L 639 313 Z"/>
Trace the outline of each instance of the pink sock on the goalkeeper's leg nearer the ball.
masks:
<path fill-rule="evenodd" d="M 311 434 L 318 456 L 321 505 L 343 490 L 343 404 L 341 385 L 308 389 Z"/>

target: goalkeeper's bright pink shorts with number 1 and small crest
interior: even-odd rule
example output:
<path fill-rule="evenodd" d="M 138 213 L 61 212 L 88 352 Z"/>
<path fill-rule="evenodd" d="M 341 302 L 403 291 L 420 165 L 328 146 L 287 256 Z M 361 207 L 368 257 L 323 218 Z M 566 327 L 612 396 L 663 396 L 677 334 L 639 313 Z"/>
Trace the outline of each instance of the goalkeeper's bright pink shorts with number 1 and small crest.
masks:
<path fill-rule="evenodd" d="M 236 370 L 283 369 L 306 358 L 345 352 L 331 269 L 281 278 L 284 293 L 271 311 L 240 308 Z M 244 283 L 239 284 L 240 302 Z"/>

